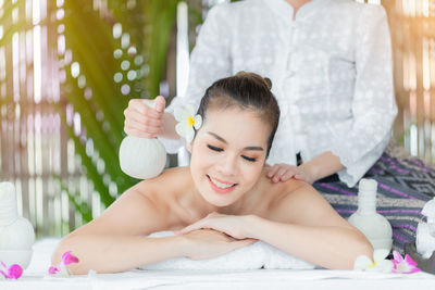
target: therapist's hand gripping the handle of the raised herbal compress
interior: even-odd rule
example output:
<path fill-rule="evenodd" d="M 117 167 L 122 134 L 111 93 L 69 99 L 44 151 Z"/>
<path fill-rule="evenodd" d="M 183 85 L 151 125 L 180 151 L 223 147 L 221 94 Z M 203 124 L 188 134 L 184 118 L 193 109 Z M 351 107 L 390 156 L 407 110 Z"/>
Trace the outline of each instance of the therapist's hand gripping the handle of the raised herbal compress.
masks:
<path fill-rule="evenodd" d="M 132 99 L 124 111 L 124 131 L 129 136 L 154 138 L 162 133 L 165 100 L 156 98 L 154 109 L 149 108 L 142 99 Z"/>

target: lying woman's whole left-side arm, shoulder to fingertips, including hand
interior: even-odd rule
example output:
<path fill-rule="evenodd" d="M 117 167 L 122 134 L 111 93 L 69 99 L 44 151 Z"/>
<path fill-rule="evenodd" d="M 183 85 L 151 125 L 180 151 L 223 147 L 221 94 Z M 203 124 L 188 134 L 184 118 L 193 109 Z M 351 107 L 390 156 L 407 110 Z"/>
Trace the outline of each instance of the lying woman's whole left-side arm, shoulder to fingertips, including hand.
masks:
<path fill-rule="evenodd" d="M 87 274 L 89 269 L 115 273 L 172 257 L 210 259 L 254 241 L 234 240 L 215 230 L 196 230 L 183 237 L 146 237 L 171 229 L 167 219 L 172 209 L 163 200 L 144 193 L 145 189 L 149 193 L 159 185 L 161 188 L 161 181 L 156 178 L 126 191 L 100 217 L 66 236 L 55 249 L 52 264 L 59 264 L 62 254 L 72 251 L 79 260 L 69 266 L 73 274 Z M 167 191 L 169 186 L 164 189 Z M 170 196 L 164 193 L 157 196 Z"/>

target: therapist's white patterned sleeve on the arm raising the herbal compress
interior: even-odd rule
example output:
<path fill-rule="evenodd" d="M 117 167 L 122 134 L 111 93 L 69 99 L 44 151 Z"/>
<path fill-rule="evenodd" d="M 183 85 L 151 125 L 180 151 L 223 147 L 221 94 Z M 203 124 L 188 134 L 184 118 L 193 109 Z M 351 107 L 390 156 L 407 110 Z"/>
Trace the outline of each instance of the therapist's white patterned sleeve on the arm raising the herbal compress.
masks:
<path fill-rule="evenodd" d="M 206 92 L 215 80 L 231 76 L 231 4 L 213 7 L 201 26 L 190 54 L 189 77 L 186 93 L 175 97 L 165 112 L 174 114 L 174 108 L 191 104 L 197 109 Z M 176 153 L 185 144 L 184 139 L 160 138 L 166 152 Z"/>

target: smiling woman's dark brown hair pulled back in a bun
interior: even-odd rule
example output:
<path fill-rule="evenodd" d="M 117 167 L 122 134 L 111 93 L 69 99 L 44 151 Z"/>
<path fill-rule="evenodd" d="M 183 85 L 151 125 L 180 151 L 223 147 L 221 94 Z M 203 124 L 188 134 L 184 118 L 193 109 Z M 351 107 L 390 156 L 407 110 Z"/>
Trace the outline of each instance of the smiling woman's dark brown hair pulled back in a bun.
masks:
<path fill-rule="evenodd" d="M 239 72 L 235 76 L 221 78 L 211 85 L 202 97 L 198 113 L 206 121 L 210 108 L 228 109 L 238 106 L 251 110 L 271 126 L 266 157 L 279 122 L 279 106 L 271 92 L 272 81 L 254 73 Z"/>

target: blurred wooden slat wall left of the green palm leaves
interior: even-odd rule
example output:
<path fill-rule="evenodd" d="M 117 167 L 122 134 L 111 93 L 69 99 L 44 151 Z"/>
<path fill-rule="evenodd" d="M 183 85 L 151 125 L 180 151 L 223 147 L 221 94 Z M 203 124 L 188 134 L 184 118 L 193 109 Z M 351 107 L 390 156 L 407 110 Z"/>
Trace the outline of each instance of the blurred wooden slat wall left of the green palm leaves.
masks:
<path fill-rule="evenodd" d="M 0 1 L 0 7 L 8 1 Z M 55 1 L 26 1 L 13 12 L 17 13 L 15 20 L 0 23 L 3 31 L 18 18 L 35 24 L 0 47 L 0 181 L 15 185 L 18 213 L 32 222 L 37 237 L 63 236 L 82 223 L 54 175 L 61 176 L 71 191 L 79 189 L 89 204 L 94 194 L 53 108 L 61 91 L 57 26 L 47 25 L 57 7 L 50 4 Z M 62 106 L 78 128 L 79 118 L 74 118 L 66 104 Z"/>

